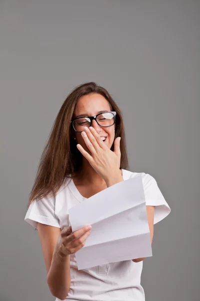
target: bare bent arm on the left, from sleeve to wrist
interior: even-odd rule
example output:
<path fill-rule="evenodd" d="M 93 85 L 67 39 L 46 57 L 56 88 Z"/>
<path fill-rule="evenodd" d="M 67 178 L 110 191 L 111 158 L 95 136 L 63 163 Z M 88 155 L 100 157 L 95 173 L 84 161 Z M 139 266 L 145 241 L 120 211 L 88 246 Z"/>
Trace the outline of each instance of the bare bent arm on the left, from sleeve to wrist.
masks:
<path fill-rule="evenodd" d="M 70 287 L 70 255 L 62 256 L 57 250 L 60 229 L 37 223 L 47 271 L 47 283 L 53 296 L 63 300 Z"/>

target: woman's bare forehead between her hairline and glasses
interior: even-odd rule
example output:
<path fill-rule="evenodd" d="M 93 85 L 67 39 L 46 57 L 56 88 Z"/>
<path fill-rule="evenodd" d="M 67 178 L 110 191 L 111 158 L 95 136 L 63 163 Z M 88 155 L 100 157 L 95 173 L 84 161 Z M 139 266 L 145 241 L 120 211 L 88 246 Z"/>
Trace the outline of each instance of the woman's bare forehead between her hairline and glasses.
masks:
<path fill-rule="evenodd" d="M 89 94 L 81 96 L 74 109 L 74 115 L 86 114 L 95 115 L 98 111 L 109 111 L 111 106 L 109 102 L 100 94 Z"/>

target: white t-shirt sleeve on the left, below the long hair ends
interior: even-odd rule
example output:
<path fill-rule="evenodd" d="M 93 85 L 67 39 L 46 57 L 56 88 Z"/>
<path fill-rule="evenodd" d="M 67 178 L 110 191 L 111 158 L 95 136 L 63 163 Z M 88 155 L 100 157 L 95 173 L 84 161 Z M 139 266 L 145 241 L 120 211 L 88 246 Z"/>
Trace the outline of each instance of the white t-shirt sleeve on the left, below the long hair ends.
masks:
<path fill-rule="evenodd" d="M 42 198 L 30 203 L 24 220 L 37 229 L 37 222 L 60 228 L 59 219 L 55 216 L 55 199 Z"/>

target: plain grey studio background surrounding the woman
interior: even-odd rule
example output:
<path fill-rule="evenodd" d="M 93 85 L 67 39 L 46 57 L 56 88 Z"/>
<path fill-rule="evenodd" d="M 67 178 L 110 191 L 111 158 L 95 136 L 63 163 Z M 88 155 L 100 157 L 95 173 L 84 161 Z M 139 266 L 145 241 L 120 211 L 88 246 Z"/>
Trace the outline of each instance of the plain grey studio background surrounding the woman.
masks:
<path fill-rule="evenodd" d="M 24 216 L 52 123 L 86 81 L 114 97 L 130 170 L 171 207 L 143 262 L 146 300 L 199 300 L 199 12 L 192 0 L 0 1 L 0 301 L 55 299 Z"/>

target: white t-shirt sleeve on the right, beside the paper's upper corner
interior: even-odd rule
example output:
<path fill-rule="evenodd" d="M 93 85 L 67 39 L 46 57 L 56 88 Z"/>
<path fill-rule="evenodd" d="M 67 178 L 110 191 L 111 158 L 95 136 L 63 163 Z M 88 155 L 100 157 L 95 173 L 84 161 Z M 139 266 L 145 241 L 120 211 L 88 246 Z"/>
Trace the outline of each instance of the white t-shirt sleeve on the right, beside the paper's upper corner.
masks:
<path fill-rule="evenodd" d="M 149 174 L 143 176 L 143 189 L 146 206 L 155 206 L 154 224 L 164 219 L 171 211 L 155 179 Z"/>

